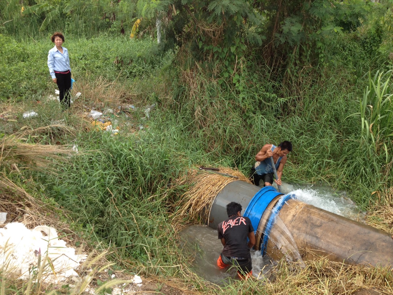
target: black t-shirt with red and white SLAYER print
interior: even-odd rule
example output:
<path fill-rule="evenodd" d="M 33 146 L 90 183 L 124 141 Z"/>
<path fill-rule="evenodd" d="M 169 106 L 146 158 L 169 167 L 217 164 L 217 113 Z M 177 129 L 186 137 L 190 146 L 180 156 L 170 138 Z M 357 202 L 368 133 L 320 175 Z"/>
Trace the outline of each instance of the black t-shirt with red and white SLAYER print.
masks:
<path fill-rule="evenodd" d="M 219 239 L 225 239 L 222 254 L 227 257 L 251 257 L 250 248 L 247 245 L 249 232 L 254 229 L 251 220 L 245 216 L 232 216 L 221 222 L 218 227 Z"/>

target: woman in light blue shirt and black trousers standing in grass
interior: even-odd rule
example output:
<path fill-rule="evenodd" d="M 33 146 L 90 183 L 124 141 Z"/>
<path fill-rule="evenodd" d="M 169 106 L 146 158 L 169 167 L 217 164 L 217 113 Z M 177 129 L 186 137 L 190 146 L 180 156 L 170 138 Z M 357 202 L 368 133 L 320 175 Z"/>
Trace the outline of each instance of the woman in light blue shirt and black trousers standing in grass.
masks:
<path fill-rule="evenodd" d="M 51 36 L 51 41 L 55 43 L 55 47 L 49 50 L 48 68 L 53 83 L 56 83 L 57 87 L 59 87 L 60 103 L 64 109 L 68 109 L 70 107 L 71 91 L 70 57 L 68 56 L 67 48 L 62 47 L 64 42 L 64 35 L 62 33 L 55 32 Z"/>

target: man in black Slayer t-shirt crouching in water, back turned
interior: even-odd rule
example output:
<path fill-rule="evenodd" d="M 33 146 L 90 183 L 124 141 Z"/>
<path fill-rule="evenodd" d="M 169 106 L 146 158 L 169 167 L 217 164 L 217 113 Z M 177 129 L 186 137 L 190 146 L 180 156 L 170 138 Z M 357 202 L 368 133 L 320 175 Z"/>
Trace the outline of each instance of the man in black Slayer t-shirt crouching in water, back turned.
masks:
<path fill-rule="evenodd" d="M 246 279 L 252 275 L 250 249 L 255 245 L 255 234 L 250 218 L 241 216 L 241 210 L 239 203 L 231 202 L 226 205 L 229 218 L 221 222 L 217 229 L 224 246 L 217 265 L 220 269 L 235 265 L 239 278 Z"/>

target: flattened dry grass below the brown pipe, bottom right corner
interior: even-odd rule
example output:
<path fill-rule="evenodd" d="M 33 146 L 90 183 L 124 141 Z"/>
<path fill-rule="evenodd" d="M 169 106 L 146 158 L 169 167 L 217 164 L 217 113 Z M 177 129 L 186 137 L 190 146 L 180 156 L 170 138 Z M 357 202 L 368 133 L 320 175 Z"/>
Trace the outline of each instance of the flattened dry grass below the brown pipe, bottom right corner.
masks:
<path fill-rule="evenodd" d="M 299 267 L 287 262 L 277 265 L 263 289 L 267 294 L 391 295 L 393 278 L 386 268 L 319 258 L 302 262 Z"/>

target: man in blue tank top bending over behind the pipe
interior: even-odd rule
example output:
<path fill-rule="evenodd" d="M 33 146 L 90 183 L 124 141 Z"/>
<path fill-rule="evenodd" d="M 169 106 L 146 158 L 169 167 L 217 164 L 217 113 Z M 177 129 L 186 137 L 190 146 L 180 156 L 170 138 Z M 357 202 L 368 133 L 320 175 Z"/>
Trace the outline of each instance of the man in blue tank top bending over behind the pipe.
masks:
<path fill-rule="evenodd" d="M 273 144 L 265 144 L 255 156 L 255 165 L 251 168 L 250 180 L 253 184 L 259 185 L 259 181 L 263 180 L 264 186 L 272 185 L 273 183 L 273 166 L 270 157 L 273 157 L 274 166 L 277 170 L 277 177 L 275 183 L 281 185 L 281 176 L 283 175 L 283 168 L 286 163 L 288 153 L 292 151 L 292 144 L 290 141 L 283 141 L 278 146 Z"/>

